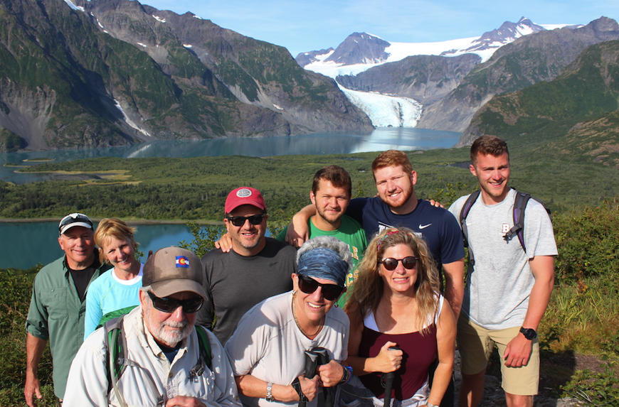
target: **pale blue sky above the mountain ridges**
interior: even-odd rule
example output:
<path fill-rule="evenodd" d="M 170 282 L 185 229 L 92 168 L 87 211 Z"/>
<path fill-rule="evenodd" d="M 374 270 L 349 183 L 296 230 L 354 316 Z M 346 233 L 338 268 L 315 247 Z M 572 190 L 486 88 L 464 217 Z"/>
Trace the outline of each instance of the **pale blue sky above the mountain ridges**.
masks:
<path fill-rule="evenodd" d="M 297 53 L 336 48 L 354 32 L 419 43 L 481 36 L 520 17 L 539 24 L 619 19 L 618 0 L 140 0 L 191 11 L 213 23 Z"/>

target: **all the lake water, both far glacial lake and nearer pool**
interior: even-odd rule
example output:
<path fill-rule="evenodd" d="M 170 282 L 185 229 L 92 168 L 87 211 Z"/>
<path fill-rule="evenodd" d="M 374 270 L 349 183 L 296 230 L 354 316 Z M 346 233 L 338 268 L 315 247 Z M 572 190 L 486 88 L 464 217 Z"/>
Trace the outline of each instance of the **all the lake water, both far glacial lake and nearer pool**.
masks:
<path fill-rule="evenodd" d="M 156 141 L 129 147 L 89 148 L 62 151 L 35 151 L 0 154 L 0 165 L 23 163 L 26 159 L 53 158 L 71 161 L 81 158 L 113 156 L 124 158 L 196 156 L 283 156 L 296 154 L 342 154 L 385 151 L 391 148 L 412 151 L 450 148 L 460 139 L 454 131 L 411 128 L 376 129 L 368 136 L 350 134 L 312 134 L 272 138 L 231 138 L 205 141 Z M 0 166 L 0 179 L 13 183 L 44 181 L 44 174 L 14 173 L 16 168 Z M 307 175 L 308 177 L 311 174 Z M 184 224 L 137 224 L 135 239 L 147 254 L 165 246 L 193 239 Z M 58 246 L 58 222 L 0 222 L 0 268 L 28 268 L 48 264 L 62 256 Z"/>

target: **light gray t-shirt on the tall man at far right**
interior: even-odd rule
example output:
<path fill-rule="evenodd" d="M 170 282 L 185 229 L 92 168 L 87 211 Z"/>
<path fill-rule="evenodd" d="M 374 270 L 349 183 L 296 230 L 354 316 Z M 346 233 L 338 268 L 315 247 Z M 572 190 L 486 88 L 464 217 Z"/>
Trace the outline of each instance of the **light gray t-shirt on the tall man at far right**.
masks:
<path fill-rule="evenodd" d="M 478 197 L 466 219 L 469 248 L 475 266 L 469 268 L 462 313 L 475 324 L 489 330 L 517 327 L 524 322 L 529 295 L 535 282 L 529 259 L 556 256 L 556 243 L 550 217 L 544 206 L 529 200 L 525 208 L 525 253 L 517 237 L 505 241 L 503 236 L 514 226 L 515 190 L 496 205 L 485 205 Z M 460 197 L 449 211 L 460 219 L 467 200 Z"/>

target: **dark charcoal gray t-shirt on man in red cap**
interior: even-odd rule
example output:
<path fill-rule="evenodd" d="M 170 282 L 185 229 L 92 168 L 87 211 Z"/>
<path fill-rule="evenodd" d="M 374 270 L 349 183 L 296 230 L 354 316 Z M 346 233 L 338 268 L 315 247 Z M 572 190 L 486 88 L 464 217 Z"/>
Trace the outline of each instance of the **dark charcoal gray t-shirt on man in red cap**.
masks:
<path fill-rule="evenodd" d="M 286 242 L 265 239 L 265 248 L 255 256 L 215 249 L 202 257 L 208 301 L 198 311 L 197 323 L 211 329 L 221 344 L 226 344 L 250 308 L 266 298 L 292 290 L 297 250 Z M 215 327 L 211 326 L 213 315 L 217 316 Z"/>

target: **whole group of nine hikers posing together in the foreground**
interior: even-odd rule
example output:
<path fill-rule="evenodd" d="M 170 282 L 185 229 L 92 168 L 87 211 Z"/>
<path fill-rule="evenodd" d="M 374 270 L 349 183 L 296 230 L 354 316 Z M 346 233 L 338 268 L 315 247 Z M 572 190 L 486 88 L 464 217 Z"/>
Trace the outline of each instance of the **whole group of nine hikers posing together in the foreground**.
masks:
<path fill-rule="evenodd" d="M 346 170 L 324 167 L 276 239 L 260 191 L 236 188 L 202 259 L 166 247 L 142 264 L 121 219 L 64 217 L 65 255 L 33 286 L 26 403 L 49 341 L 58 406 L 451 407 L 457 339 L 460 406 L 480 403 L 495 344 L 507 406 L 532 406 L 551 219 L 507 185 L 502 139 L 470 156 L 480 190 L 449 210 L 418 199 L 401 151 L 372 163 L 375 197 L 351 199 Z"/>

